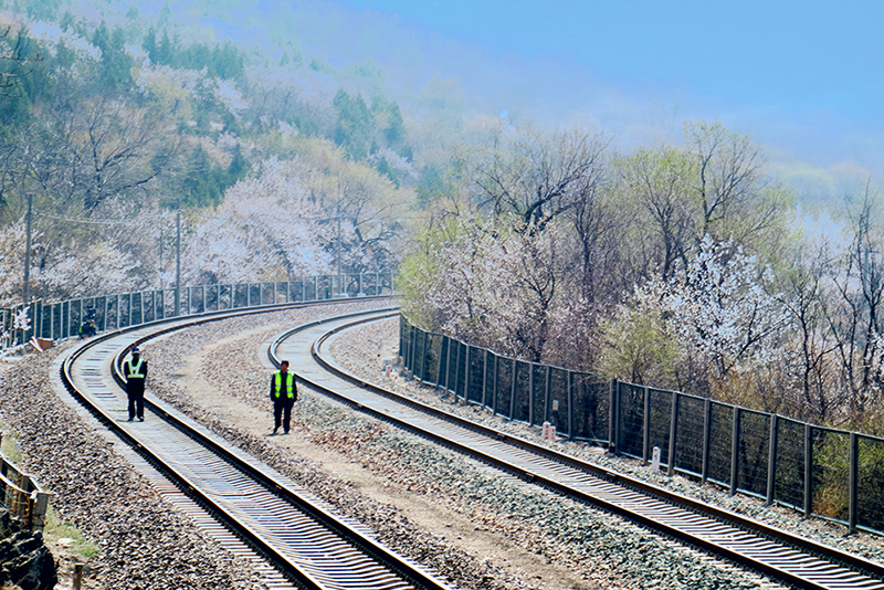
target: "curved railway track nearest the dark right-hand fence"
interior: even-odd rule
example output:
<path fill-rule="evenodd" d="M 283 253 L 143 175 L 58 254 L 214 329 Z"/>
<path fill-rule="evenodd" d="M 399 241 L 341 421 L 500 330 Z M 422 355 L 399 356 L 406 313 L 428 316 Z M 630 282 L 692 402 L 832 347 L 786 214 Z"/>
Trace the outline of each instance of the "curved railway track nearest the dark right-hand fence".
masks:
<path fill-rule="evenodd" d="M 774 580 L 807 589 L 884 589 L 884 566 L 743 515 L 627 477 L 386 390 L 337 367 L 328 343 L 379 313 L 281 334 L 272 360 L 293 360 L 298 377 L 351 407 L 485 463 L 591 503 Z"/>

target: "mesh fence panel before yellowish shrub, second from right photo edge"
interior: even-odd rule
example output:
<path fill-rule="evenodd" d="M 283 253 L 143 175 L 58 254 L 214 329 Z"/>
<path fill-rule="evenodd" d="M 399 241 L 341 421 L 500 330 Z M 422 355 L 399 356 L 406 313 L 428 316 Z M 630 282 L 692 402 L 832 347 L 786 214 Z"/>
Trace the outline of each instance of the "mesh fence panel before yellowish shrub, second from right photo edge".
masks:
<path fill-rule="evenodd" d="M 812 512 L 848 521 L 850 518 L 850 434 L 813 426 Z"/>

